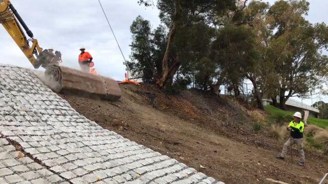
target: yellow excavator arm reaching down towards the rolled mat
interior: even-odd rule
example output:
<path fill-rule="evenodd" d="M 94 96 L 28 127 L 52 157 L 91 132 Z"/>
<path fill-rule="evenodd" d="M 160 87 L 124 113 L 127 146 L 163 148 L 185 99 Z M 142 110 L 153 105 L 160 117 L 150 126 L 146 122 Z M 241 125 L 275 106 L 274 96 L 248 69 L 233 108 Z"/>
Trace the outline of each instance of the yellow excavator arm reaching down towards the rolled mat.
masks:
<path fill-rule="evenodd" d="M 60 52 L 56 51 L 52 53 L 40 48 L 32 31 L 26 26 L 22 17 L 20 17 L 9 0 L 0 0 L 0 24 L 7 30 L 34 68 L 38 68 L 39 66 L 47 68 L 49 65 L 61 61 Z M 27 39 L 20 25 L 22 25 L 27 35 L 30 37 L 29 39 Z"/>

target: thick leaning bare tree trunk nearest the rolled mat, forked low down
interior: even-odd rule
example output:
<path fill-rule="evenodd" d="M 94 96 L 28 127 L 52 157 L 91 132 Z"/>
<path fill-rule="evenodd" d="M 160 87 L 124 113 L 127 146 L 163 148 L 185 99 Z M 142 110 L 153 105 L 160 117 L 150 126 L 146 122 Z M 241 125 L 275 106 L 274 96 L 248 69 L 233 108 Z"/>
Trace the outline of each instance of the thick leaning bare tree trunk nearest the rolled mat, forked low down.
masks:
<path fill-rule="evenodd" d="M 169 67 L 169 57 L 170 57 L 170 53 L 171 53 L 173 38 L 174 38 L 176 29 L 177 29 L 177 16 L 178 16 L 179 10 L 180 10 L 180 7 L 178 4 L 178 1 L 176 0 L 174 17 L 172 20 L 173 24 L 172 24 L 172 28 L 171 28 L 171 31 L 170 31 L 170 34 L 168 37 L 168 43 L 167 43 L 165 55 L 162 60 L 162 76 L 160 79 L 157 78 L 157 80 L 156 80 L 156 84 L 160 88 L 165 88 L 166 86 L 168 86 L 167 82 L 170 81 L 168 79 L 173 78 L 174 74 L 176 73 L 176 71 L 178 70 L 178 68 L 180 66 L 179 59 L 176 58 L 175 61 L 173 61 L 172 66 Z"/>

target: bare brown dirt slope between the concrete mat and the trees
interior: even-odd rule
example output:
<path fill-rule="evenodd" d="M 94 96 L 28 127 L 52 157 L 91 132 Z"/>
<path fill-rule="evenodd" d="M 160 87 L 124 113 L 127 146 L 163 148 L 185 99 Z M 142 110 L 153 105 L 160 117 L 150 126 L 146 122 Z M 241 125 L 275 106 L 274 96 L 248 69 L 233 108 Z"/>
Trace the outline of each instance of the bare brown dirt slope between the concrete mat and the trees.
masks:
<path fill-rule="evenodd" d="M 226 183 L 318 183 L 328 172 L 327 156 L 315 153 L 306 152 L 305 167 L 297 166 L 296 150 L 293 165 L 290 157 L 277 160 L 283 142 L 252 132 L 247 109 L 236 102 L 197 91 L 166 96 L 153 86 L 121 89 L 116 103 L 60 96 L 100 126 Z"/>

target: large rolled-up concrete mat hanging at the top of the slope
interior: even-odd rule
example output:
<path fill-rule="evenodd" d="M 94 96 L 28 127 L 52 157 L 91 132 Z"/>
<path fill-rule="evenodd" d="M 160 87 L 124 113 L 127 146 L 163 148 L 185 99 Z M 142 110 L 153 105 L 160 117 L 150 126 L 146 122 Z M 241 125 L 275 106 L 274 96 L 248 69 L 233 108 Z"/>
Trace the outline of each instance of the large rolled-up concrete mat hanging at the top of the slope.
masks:
<path fill-rule="evenodd" d="M 115 80 L 65 66 L 49 66 L 45 72 L 44 82 L 61 94 L 111 101 L 117 101 L 121 97 L 121 90 Z"/>

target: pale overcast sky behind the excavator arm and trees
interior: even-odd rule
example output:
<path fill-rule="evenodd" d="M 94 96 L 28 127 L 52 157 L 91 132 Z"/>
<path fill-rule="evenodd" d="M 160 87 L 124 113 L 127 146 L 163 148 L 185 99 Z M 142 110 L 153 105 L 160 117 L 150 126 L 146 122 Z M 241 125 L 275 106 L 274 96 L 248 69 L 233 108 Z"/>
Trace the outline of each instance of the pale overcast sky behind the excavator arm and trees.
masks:
<path fill-rule="evenodd" d="M 275 1 L 268 1 L 273 4 Z M 326 0 L 310 0 L 311 22 L 326 22 Z M 94 58 L 95 68 L 101 75 L 116 80 L 124 79 L 125 65 L 107 21 L 97 0 L 11 0 L 20 16 L 38 39 L 41 47 L 53 47 L 63 55 L 63 65 L 79 68 L 79 48 L 85 46 Z M 159 24 L 156 7 L 145 8 L 137 0 L 102 0 L 101 3 L 111 22 L 121 49 L 130 55 L 130 25 L 138 16 Z M 32 68 L 5 29 L 0 29 L 2 50 L 0 63 Z M 325 101 L 328 101 L 326 99 Z M 311 100 L 307 101 L 309 104 Z"/>

